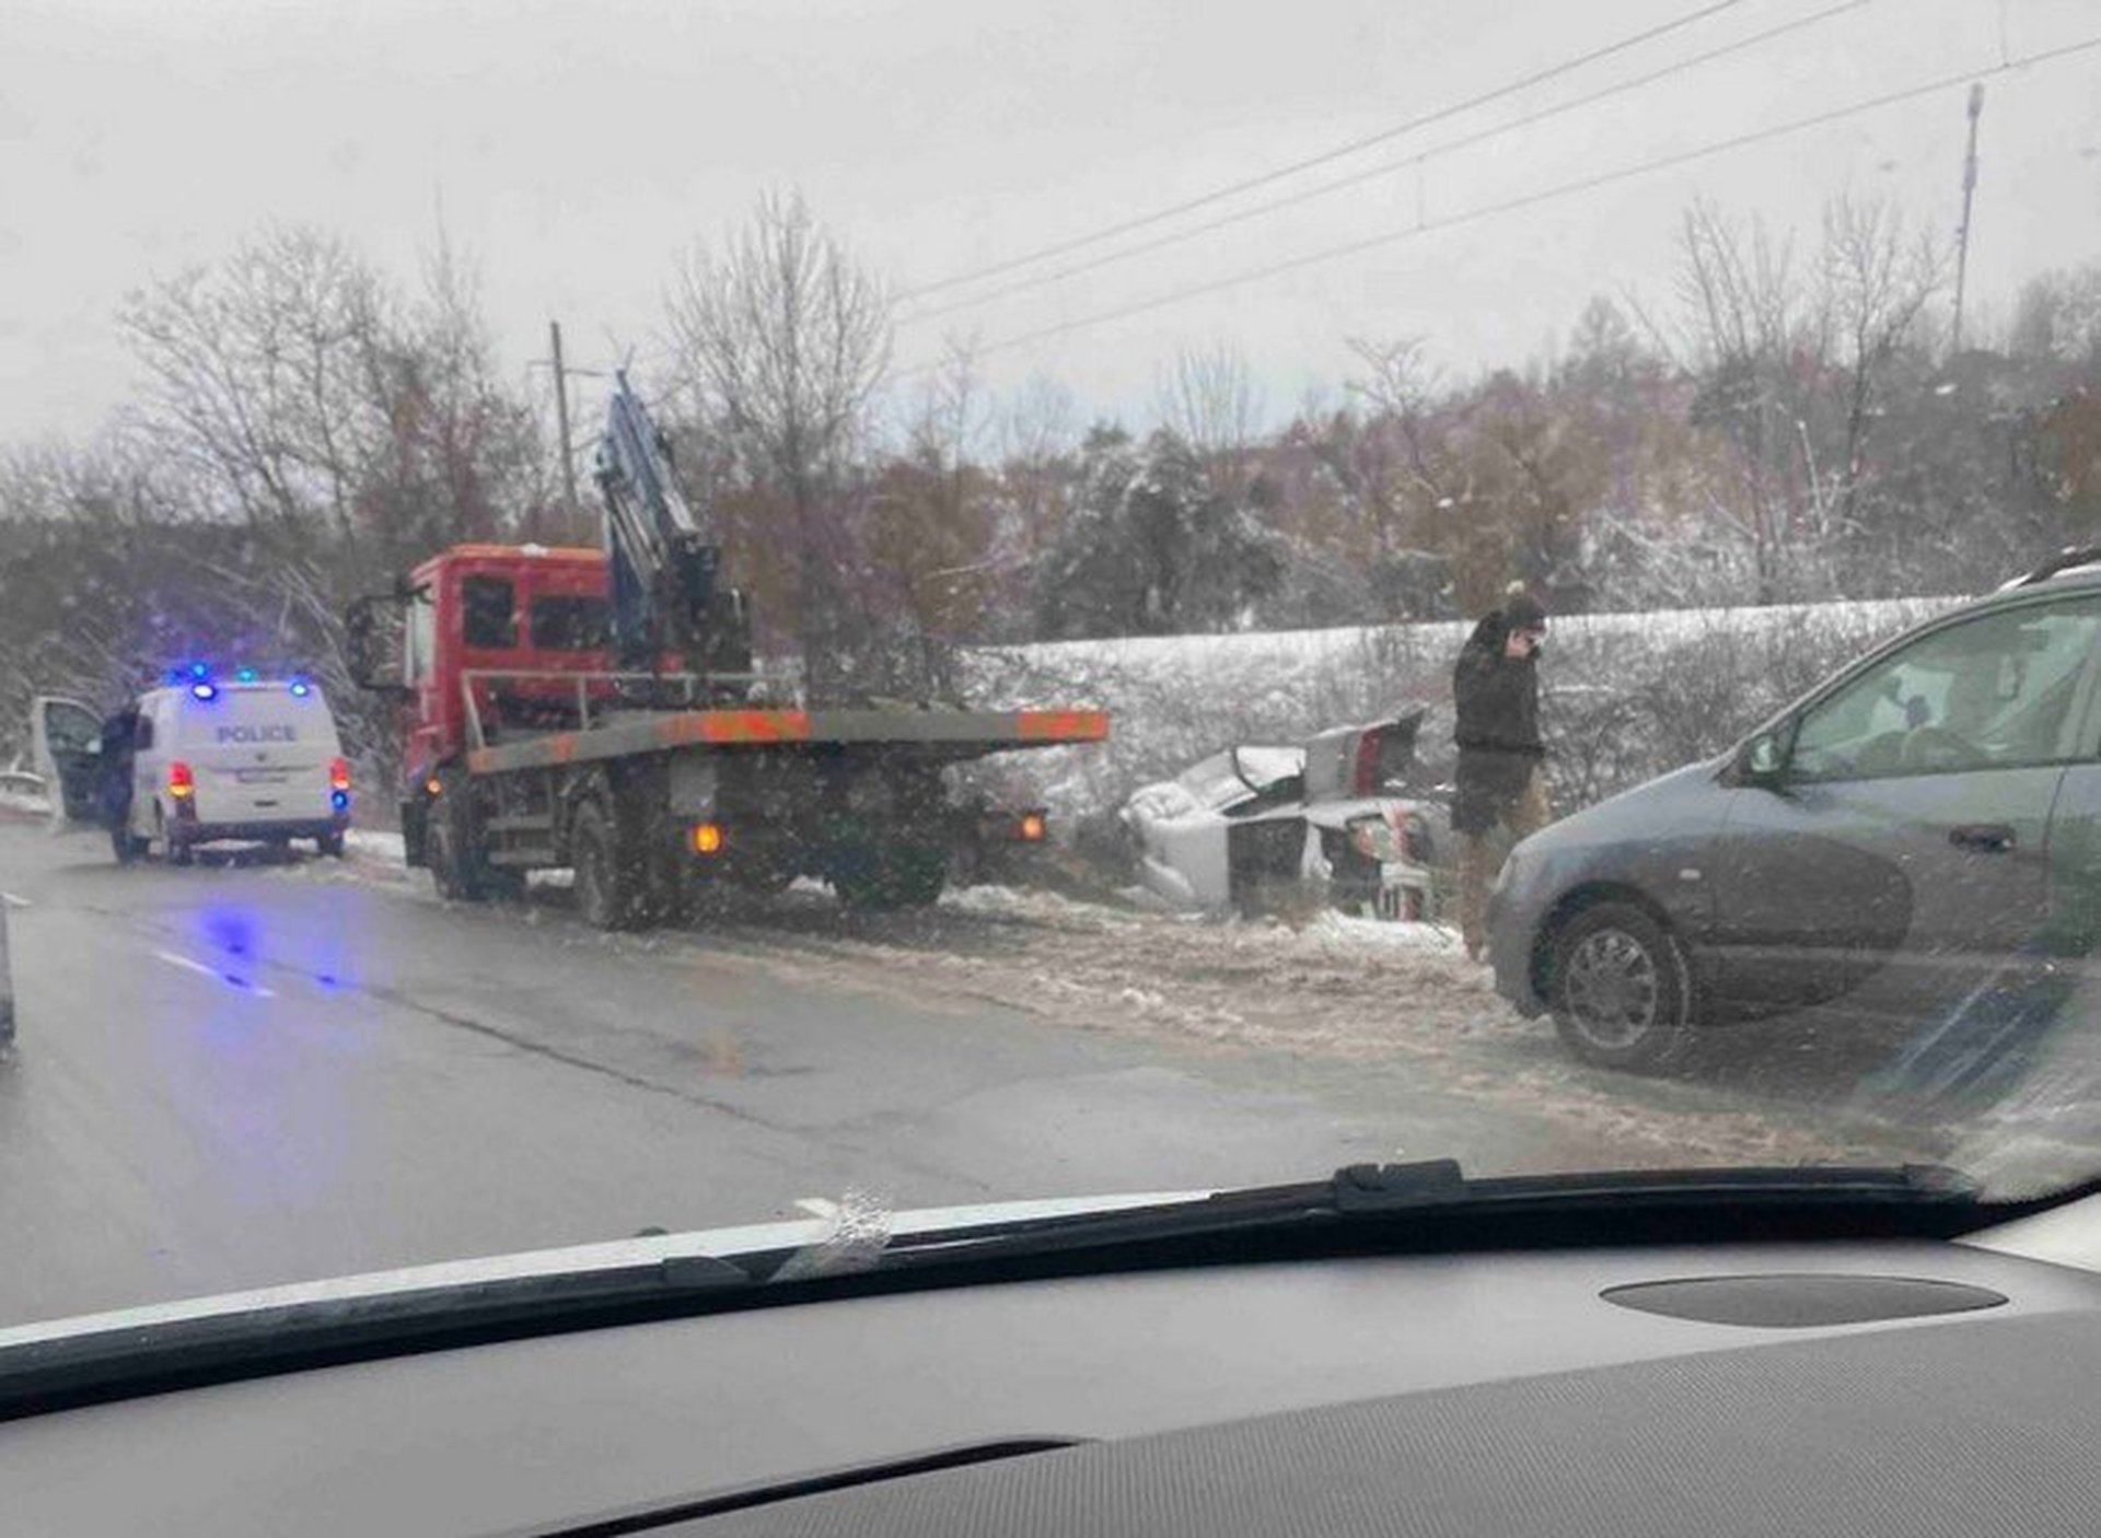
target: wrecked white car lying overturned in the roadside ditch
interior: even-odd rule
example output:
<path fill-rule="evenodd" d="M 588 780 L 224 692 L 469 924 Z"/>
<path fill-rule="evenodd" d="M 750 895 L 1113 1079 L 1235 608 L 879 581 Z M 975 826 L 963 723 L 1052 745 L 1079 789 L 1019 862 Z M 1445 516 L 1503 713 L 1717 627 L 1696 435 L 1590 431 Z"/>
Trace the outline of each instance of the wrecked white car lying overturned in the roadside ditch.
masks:
<path fill-rule="evenodd" d="M 1309 897 L 1422 920 L 1435 807 L 1410 792 L 1424 712 L 1227 748 L 1124 803 L 1139 880 L 1174 908 L 1258 914 Z"/>

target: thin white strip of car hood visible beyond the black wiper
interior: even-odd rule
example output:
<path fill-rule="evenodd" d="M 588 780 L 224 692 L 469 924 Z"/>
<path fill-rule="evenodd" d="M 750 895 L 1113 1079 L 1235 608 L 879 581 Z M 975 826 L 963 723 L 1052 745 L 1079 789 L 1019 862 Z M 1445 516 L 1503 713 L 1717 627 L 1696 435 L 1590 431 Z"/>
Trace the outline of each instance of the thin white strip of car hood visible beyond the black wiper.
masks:
<path fill-rule="evenodd" d="M 1116 1212 L 1122 1208 L 1153 1206 L 1162 1202 L 1198 1202 L 1208 1196 L 1212 1196 L 1212 1191 L 1130 1191 L 1114 1196 L 1046 1198 L 1034 1202 L 914 1208 L 903 1212 L 882 1212 L 880 1231 L 885 1235 L 948 1231 L 969 1233 L 977 1227 L 1000 1227 L 1029 1219 Z M 651 1233 L 632 1240 L 574 1244 L 555 1250 L 521 1250 L 515 1254 L 412 1265 L 391 1271 L 366 1271 L 357 1275 L 328 1277 L 321 1282 L 292 1282 L 242 1292 L 179 1298 L 172 1303 L 149 1303 L 132 1309 L 111 1309 L 103 1313 L 80 1313 L 63 1319 L 17 1324 L 0 1328 L 0 1351 L 69 1340 L 78 1336 L 151 1330 L 155 1326 L 191 1324 L 200 1319 L 231 1322 L 242 1315 L 279 1313 L 313 1305 L 353 1305 L 397 1294 L 431 1294 L 445 1290 L 460 1290 L 462 1294 L 469 1294 L 492 1282 L 576 1277 L 590 1275 L 595 1271 L 611 1273 L 632 1269 L 637 1265 L 658 1265 L 664 1261 L 735 1261 L 746 1254 L 771 1254 L 779 1250 L 819 1254 L 826 1246 L 849 1235 L 853 1225 L 851 1212 L 843 1212 L 830 1202 L 805 1202 L 803 1206 L 811 1210 L 811 1214 L 803 1219 L 693 1229 L 687 1233 Z"/>

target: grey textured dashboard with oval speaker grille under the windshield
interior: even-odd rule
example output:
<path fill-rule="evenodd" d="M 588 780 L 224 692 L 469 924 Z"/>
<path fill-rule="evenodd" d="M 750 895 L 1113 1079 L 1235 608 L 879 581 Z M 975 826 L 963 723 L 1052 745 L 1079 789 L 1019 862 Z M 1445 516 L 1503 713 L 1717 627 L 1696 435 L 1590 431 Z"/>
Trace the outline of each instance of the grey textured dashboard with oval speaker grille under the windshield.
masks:
<path fill-rule="evenodd" d="M 332 1366 L 0 1425 L 4 1525 L 2093 1532 L 2090 1227 L 1080 1275 Z"/>

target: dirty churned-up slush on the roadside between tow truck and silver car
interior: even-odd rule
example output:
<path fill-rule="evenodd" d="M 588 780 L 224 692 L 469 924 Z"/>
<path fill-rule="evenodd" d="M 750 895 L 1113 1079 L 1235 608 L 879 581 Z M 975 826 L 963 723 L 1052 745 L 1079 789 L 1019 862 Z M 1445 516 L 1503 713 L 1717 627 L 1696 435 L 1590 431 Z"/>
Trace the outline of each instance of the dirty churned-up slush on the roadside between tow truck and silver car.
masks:
<path fill-rule="evenodd" d="M 721 943 L 788 943 L 798 977 L 834 971 L 914 998 L 990 1000 L 1065 1027 L 1284 1055 L 1366 1082 L 1397 1076 L 1412 1093 L 1473 1103 L 1488 1118 L 1504 1107 L 1603 1132 L 1628 1164 L 1927 1156 L 1920 1137 L 1828 1097 L 1580 1067 L 1551 1025 L 1521 1021 L 1488 971 L 1429 924 L 1328 912 L 1301 927 L 1214 920 L 973 887 L 924 914 L 782 903 L 727 929 Z"/>

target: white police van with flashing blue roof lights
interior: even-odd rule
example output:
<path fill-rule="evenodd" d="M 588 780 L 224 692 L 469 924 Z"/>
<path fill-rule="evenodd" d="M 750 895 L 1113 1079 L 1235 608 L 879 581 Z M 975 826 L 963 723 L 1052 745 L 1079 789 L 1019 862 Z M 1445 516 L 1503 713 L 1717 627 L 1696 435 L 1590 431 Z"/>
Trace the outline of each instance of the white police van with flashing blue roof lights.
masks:
<path fill-rule="evenodd" d="M 132 714 L 134 712 L 134 714 Z M 342 857 L 351 767 L 321 689 L 307 679 L 189 677 L 139 695 L 128 740 L 130 809 L 111 830 L 120 859 L 187 864 L 223 838 L 311 838 Z M 107 750 L 105 750 L 107 752 Z M 120 765 L 109 765 L 122 775 Z"/>

